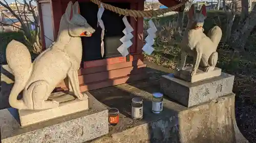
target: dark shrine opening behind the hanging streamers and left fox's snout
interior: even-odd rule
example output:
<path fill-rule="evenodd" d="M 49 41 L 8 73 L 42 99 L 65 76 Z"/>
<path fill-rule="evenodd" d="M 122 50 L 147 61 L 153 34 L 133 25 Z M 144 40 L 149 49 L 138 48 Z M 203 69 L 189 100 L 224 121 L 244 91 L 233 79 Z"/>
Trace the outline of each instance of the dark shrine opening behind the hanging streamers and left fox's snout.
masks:
<path fill-rule="evenodd" d="M 106 3 L 122 9 L 130 9 L 130 3 Z M 87 19 L 87 22 L 96 30 L 91 37 L 82 37 L 83 55 L 82 62 L 101 60 L 121 56 L 117 48 L 122 44 L 120 38 L 124 36 L 122 31 L 125 28 L 122 18 L 123 16 L 104 10 L 101 17 L 105 26 L 104 35 L 104 56 L 101 57 L 100 52 L 100 35 L 101 28 L 97 22 L 98 5 L 92 2 L 80 2 L 80 14 Z M 130 21 L 130 18 L 127 17 Z"/>

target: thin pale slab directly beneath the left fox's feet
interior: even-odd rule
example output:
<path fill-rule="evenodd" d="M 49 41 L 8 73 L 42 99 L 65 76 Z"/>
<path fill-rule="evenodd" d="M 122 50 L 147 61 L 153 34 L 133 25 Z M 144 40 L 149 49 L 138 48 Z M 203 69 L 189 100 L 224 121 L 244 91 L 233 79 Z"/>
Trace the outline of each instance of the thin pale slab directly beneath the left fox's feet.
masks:
<path fill-rule="evenodd" d="M 59 102 L 58 108 L 44 110 L 18 110 L 20 125 L 24 127 L 89 109 L 88 99 L 78 100 L 73 96 L 62 92 L 53 93 L 52 96 L 55 96 L 55 98 L 52 99 Z"/>

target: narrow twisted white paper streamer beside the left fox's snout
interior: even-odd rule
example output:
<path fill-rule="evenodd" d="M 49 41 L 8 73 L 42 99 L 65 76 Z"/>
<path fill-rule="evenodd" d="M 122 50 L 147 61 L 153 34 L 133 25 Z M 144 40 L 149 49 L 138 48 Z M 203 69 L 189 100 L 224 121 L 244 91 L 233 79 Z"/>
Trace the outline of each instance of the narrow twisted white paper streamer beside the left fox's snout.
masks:
<path fill-rule="evenodd" d="M 101 56 L 104 56 L 104 34 L 105 34 L 105 26 L 104 23 L 101 19 L 102 14 L 104 12 L 104 7 L 102 6 L 102 4 L 100 4 L 98 13 L 97 13 L 97 18 L 98 18 L 98 25 L 101 27 L 102 31 L 101 31 L 101 43 L 100 43 L 100 47 L 101 47 Z"/>

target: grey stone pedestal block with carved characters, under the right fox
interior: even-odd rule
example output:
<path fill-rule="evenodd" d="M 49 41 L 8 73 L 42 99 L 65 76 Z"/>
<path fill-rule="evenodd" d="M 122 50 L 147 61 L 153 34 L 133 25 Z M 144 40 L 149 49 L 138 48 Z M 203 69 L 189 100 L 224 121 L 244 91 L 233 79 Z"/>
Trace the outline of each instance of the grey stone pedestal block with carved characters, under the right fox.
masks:
<path fill-rule="evenodd" d="M 160 84 L 164 95 L 186 107 L 191 107 L 232 93 L 233 81 L 233 75 L 223 72 L 221 76 L 194 83 L 168 74 L 162 76 Z"/>

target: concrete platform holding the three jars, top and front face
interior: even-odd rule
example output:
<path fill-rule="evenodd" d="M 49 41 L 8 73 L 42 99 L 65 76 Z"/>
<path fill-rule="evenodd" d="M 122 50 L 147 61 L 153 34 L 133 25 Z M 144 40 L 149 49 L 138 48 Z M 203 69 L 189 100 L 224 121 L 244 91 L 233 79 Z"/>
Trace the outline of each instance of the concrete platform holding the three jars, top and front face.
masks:
<path fill-rule="evenodd" d="M 154 78 L 153 78 L 154 79 Z M 160 115 L 152 113 L 152 93 L 160 90 L 157 80 L 91 91 L 103 104 L 119 109 L 120 124 L 109 126 L 109 135 L 91 143 L 242 143 L 248 141 L 240 133 L 234 118 L 234 94 L 187 108 L 164 98 Z M 143 98 L 143 119 L 131 119 L 131 100 Z"/>

